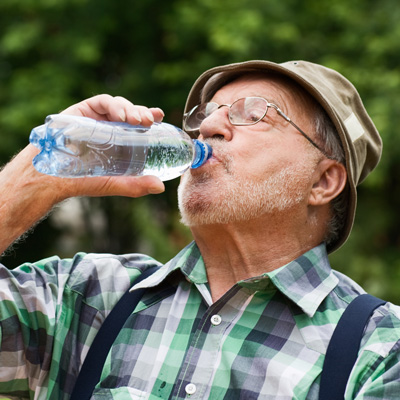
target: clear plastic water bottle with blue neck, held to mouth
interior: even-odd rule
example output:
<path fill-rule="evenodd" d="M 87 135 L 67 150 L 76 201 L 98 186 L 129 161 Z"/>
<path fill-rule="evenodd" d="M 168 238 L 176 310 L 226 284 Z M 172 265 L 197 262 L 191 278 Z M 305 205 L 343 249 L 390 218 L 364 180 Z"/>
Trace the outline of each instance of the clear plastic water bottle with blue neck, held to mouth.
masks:
<path fill-rule="evenodd" d="M 207 143 L 164 122 L 148 128 L 65 114 L 49 115 L 29 141 L 40 149 L 36 170 L 66 178 L 156 175 L 166 181 L 212 154 Z"/>

